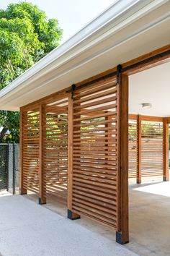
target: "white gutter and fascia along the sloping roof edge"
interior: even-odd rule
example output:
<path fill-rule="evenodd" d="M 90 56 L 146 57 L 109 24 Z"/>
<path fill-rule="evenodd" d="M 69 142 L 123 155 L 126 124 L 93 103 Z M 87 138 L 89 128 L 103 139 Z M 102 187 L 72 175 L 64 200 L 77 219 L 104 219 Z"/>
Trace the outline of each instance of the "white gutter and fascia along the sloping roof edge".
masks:
<path fill-rule="evenodd" d="M 27 69 L 26 72 L 1 90 L 0 98 L 3 98 L 9 92 L 11 93 L 14 89 L 19 90 L 27 80 L 37 80 L 42 76 L 42 71 L 43 75 L 45 75 L 64 63 L 68 63 L 71 59 L 167 1 L 169 0 L 117 0 L 115 4 L 112 4 L 92 22 L 89 22 L 69 40 L 55 48 L 50 54 L 42 58 L 30 69 Z"/>

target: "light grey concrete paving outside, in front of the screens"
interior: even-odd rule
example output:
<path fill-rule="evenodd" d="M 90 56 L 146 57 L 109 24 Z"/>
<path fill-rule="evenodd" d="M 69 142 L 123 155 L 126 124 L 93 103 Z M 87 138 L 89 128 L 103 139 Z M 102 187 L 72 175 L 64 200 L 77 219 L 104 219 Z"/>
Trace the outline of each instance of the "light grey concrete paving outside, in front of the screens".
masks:
<path fill-rule="evenodd" d="M 0 197 L 0 216 L 3 256 L 136 255 L 21 195 Z"/>

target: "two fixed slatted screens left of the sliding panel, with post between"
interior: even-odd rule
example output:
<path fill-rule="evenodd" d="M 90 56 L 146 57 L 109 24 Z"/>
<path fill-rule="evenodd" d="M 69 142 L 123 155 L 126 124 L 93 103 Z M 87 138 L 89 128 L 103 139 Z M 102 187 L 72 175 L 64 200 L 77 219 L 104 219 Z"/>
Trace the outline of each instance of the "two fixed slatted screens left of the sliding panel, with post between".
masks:
<path fill-rule="evenodd" d="M 68 95 L 21 112 L 21 191 L 30 190 L 45 203 L 46 197 L 67 198 Z"/>

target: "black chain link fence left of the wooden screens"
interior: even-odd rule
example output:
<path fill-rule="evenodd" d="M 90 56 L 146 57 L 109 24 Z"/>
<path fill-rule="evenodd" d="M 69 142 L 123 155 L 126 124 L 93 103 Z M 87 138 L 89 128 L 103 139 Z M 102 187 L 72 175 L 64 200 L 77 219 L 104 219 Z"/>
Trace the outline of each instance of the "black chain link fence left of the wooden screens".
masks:
<path fill-rule="evenodd" d="M 19 144 L 0 143 L 0 191 L 19 192 Z"/>

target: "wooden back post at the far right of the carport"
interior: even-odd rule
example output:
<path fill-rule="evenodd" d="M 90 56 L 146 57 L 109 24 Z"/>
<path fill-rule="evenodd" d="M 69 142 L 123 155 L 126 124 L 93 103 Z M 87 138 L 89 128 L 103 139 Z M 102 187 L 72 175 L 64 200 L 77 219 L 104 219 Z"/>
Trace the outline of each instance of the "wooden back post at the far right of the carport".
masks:
<path fill-rule="evenodd" d="M 167 182 L 169 181 L 169 124 L 166 118 L 164 118 L 163 127 L 163 180 Z"/>

